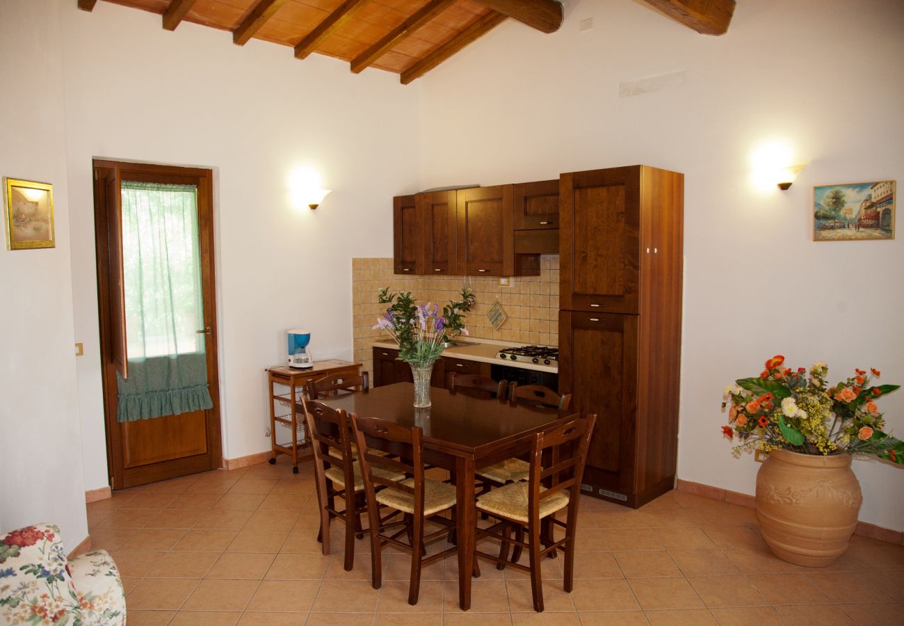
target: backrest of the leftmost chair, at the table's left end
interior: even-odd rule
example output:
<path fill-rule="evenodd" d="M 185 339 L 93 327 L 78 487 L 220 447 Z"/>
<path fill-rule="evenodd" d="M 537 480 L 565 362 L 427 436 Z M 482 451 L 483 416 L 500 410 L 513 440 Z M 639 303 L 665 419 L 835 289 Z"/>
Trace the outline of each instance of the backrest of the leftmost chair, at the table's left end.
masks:
<path fill-rule="evenodd" d="M 314 449 L 317 479 L 331 467 L 343 471 L 345 485 L 354 485 L 352 432 L 348 413 L 325 403 L 303 398 L 307 436 Z M 330 450 L 340 454 L 332 455 Z"/>

